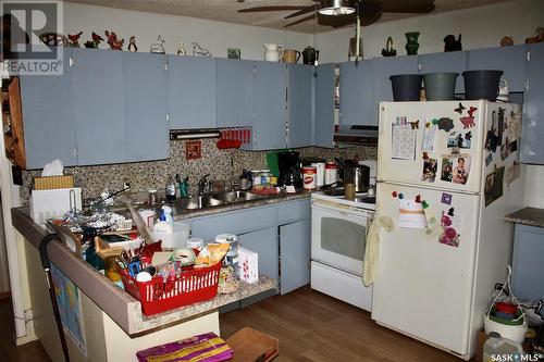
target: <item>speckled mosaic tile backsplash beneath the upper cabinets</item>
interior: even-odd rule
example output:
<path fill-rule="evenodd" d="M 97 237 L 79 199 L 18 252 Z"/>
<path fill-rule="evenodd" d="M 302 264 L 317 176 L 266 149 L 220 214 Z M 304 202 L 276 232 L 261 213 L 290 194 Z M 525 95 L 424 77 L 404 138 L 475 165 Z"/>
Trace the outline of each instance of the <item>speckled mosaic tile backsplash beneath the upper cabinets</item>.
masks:
<path fill-rule="evenodd" d="M 164 194 L 164 185 L 169 175 L 180 174 L 189 177 L 190 192 L 196 192 L 198 179 L 210 174 L 211 179 L 235 179 L 243 170 L 262 170 L 267 167 L 265 151 L 243 151 L 237 149 L 219 150 L 217 139 L 202 139 L 202 158 L 187 161 L 185 159 L 185 141 L 170 142 L 170 159 L 148 162 L 120 163 L 99 166 L 66 167 L 65 174 L 74 175 L 75 185 L 82 187 L 84 199 L 99 196 L 104 189 L 116 191 L 123 183 L 129 182 L 133 192 L 146 192 L 156 188 L 160 197 Z M 353 147 L 345 149 L 326 149 L 307 147 L 297 149 L 300 157 L 319 157 L 333 160 L 335 157 L 360 160 L 376 159 L 376 149 L 371 147 Z M 41 170 L 24 171 L 21 202 L 28 203 L 29 187 L 34 176 Z"/>

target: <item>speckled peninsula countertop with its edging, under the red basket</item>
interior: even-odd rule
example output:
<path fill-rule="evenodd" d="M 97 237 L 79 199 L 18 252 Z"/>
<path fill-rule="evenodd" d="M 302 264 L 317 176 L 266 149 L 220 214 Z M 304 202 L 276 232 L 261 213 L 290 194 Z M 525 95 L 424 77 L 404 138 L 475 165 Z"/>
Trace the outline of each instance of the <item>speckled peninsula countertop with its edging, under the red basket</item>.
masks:
<path fill-rule="evenodd" d="M 38 249 L 47 232 L 34 223 L 28 209 L 12 209 L 13 226 Z M 212 300 L 194 303 L 164 313 L 146 316 L 141 313 L 140 302 L 128 292 L 115 286 L 102 273 L 77 258 L 66 246 L 53 241 L 48 247 L 50 261 L 59 267 L 85 295 L 131 337 L 137 337 L 154 330 L 183 323 L 187 320 L 215 311 L 219 307 L 234 301 L 276 289 L 275 279 L 260 276 L 256 284 L 240 282 L 240 288 L 228 295 L 218 295 Z"/>

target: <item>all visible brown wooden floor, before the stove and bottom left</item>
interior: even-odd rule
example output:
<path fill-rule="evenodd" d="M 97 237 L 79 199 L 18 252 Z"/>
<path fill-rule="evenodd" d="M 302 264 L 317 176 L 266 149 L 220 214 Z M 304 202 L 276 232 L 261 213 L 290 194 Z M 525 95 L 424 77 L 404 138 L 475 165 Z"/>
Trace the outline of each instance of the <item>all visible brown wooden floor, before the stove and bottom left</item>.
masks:
<path fill-rule="evenodd" d="M 13 346 L 11 300 L 0 300 L 0 361 L 51 362 L 36 341 Z M 461 360 L 376 325 L 370 313 L 300 288 L 220 316 L 227 338 L 245 326 L 280 339 L 274 362 L 460 362 Z M 54 327 L 51 333 L 57 333 Z M 160 344 L 161 341 L 157 341 Z M 165 341 L 164 341 L 165 342 Z"/>

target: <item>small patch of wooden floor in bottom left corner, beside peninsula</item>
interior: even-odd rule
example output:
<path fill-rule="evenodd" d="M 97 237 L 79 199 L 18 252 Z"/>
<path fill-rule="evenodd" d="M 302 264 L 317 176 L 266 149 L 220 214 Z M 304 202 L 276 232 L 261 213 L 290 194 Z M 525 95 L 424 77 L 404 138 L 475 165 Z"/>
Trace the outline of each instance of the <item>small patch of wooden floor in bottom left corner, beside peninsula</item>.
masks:
<path fill-rule="evenodd" d="M 20 347 L 14 345 L 14 324 L 11 299 L 0 299 L 0 361 L 2 362 L 51 362 L 39 341 Z M 57 333 L 53 326 L 51 333 Z"/>

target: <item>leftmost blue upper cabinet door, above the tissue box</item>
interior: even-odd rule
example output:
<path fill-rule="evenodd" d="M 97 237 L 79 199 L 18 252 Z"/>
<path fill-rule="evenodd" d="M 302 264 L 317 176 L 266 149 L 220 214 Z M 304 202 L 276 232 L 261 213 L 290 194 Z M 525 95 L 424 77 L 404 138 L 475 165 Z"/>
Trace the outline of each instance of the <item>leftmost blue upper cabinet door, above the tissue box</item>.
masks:
<path fill-rule="evenodd" d="M 74 88 L 71 48 L 64 52 L 63 74 L 21 76 L 21 101 L 25 134 L 26 167 L 42 168 L 59 159 L 77 165 Z"/>

